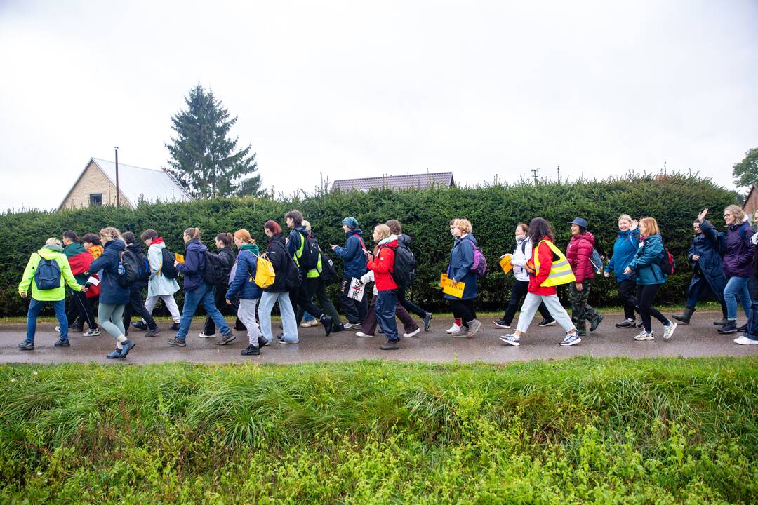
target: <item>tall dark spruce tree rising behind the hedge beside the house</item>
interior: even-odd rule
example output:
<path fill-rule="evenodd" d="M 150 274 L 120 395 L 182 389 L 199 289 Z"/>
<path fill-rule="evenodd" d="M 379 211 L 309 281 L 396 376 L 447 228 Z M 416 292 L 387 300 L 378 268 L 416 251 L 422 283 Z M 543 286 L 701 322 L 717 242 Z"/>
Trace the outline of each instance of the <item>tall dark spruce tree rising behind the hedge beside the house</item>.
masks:
<path fill-rule="evenodd" d="M 171 117 L 177 136 L 164 144 L 171 153 L 168 170 L 195 198 L 261 195 L 252 146 L 236 151 L 239 137 L 227 137 L 236 116 L 230 118 L 211 89 L 199 84 L 184 101 L 186 110 Z"/>

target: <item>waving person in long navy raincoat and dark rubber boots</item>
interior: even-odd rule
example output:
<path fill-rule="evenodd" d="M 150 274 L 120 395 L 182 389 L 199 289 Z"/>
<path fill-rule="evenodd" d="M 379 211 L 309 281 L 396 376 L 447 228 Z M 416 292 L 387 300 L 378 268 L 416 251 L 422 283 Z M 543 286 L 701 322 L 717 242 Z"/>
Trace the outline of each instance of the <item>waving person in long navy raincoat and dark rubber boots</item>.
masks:
<path fill-rule="evenodd" d="M 724 303 L 724 289 L 726 288 L 726 276 L 724 275 L 724 253 L 726 251 L 726 238 L 721 232 L 706 220 L 708 209 L 703 210 L 692 223 L 695 238 L 687 253 L 687 260 L 692 269 L 692 280 L 687 289 L 687 303 L 684 305 L 684 313 L 672 316 L 682 324 L 689 324 L 692 314 L 695 312 L 697 301 L 705 298 L 709 293 L 716 296 L 721 303 L 724 320 L 716 321 L 724 326 L 727 323 L 726 304 Z"/>

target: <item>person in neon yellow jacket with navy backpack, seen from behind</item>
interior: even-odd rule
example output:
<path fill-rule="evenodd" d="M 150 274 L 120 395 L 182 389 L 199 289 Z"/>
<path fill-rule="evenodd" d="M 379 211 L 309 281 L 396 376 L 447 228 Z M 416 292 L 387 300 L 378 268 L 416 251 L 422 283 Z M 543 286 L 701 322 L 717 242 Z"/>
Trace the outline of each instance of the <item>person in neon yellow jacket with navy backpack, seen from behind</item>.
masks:
<path fill-rule="evenodd" d="M 37 286 L 36 273 L 41 264 L 47 263 L 53 260 L 55 265 L 60 270 L 59 282 L 57 287 L 49 289 L 40 289 Z M 50 265 L 45 268 L 46 272 L 55 272 L 55 265 Z M 55 281 L 53 281 L 55 282 Z M 21 298 L 27 298 L 29 287 L 32 288 L 32 301 L 29 304 L 29 310 L 27 312 L 27 338 L 18 344 L 18 348 L 22 351 L 32 351 L 34 349 L 34 335 L 37 329 L 37 317 L 42 311 L 42 307 L 45 306 L 45 302 L 52 303 L 52 307 L 55 310 L 55 316 L 58 317 L 58 327 L 61 331 L 61 336 L 58 341 L 55 342 L 57 348 L 67 348 L 70 346 L 68 341 L 68 320 L 66 317 L 65 298 L 66 291 L 64 288 L 64 282 L 71 288 L 72 291 L 86 291 L 87 288 L 80 285 L 77 279 L 74 279 L 74 274 L 71 273 L 71 267 L 68 265 L 68 259 L 63 254 L 63 244 L 58 238 L 48 238 L 45 242 L 45 247 L 39 249 L 39 251 L 33 252 L 29 257 L 27 267 L 23 269 L 23 276 L 21 282 L 18 285 L 18 294 Z"/>

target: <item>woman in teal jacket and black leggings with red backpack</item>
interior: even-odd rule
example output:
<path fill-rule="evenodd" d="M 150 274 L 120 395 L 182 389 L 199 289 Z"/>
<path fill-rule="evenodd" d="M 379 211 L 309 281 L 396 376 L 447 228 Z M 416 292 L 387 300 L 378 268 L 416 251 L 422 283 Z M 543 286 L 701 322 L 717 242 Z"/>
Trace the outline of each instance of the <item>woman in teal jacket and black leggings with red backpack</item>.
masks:
<path fill-rule="evenodd" d="M 653 298 L 656 298 L 656 293 L 667 278 L 659 266 L 664 259 L 664 254 L 658 222 L 654 217 L 643 217 L 640 220 L 640 243 L 637 245 L 637 254 L 624 270 L 625 274 L 634 272 L 637 279 L 637 304 L 642 316 L 643 329 L 634 337 L 634 340 L 655 340 L 652 326 L 650 326 L 650 316 L 663 324 L 663 340 L 672 338 L 676 330 L 676 323 L 668 320 L 656 307 L 653 307 Z"/>

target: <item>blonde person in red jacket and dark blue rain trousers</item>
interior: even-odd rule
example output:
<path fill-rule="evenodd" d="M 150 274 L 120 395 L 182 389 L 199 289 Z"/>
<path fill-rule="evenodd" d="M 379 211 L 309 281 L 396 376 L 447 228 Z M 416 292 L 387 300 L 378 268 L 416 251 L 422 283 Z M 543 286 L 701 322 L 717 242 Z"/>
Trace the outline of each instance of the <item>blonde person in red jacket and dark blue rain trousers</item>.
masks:
<path fill-rule="evenodd" d="M 397 237 L 392 235 L 390 227 L 386 224 L 377 224 L 374 227 L 374 251 L 365 251 L 368 257 L 368 270 L 374 272 L 374 283 L 377 288 L 377 298 L 374 304 L 379 327 L 387 341 L 379 348 L 382 351 L 391 351 L 400 348 L 400 335 L 397 334 L 395 321 L 395 307 L 397 305 L 397 284 L 392 278 L 390 271 L 395 263 L 395 248 Z M 365 298 L 365 297 L 364 297 Z"/>

